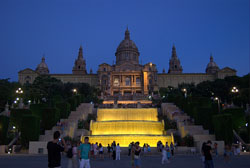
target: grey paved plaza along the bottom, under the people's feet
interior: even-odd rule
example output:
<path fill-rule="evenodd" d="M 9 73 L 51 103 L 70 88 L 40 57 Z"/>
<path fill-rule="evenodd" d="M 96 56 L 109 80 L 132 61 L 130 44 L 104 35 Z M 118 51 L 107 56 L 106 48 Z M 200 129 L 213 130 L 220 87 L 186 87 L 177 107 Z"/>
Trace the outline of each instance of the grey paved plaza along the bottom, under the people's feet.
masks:
<path fill-rule="evenodd" d="M 142 168 L 203 168 L 200 156 L 177 155 L 171 163 L 161 165 L 161 156 L 145 156 L 142 157 Z M 62 168 L 67 168 L 68 159 L 62 158 Z M 225 163 L 222 156 L 214 158 L 215 168 L 250 168 L 250 155 L 232 156 L 229 163 Z M 1 155 L 1 168 L 46 168 L 46 155 Z M 130 168 L 130 157 L 121 156 L 120 161 L 113 161 L 110 158 L 91 159 L 92 168 Z"/>

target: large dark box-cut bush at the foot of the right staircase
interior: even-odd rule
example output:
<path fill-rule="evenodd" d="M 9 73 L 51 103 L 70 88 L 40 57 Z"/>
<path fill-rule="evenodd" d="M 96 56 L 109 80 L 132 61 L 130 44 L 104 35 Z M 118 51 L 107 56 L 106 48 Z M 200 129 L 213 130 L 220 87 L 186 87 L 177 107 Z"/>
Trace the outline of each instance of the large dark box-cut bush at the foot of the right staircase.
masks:
<path fill-rule="evenodd" d="M 214 133 L 217 140 L 224 140 L 231 144 L 233 141 L 233 122 L 231 114 L 218 114 L 213 116 Z"/>

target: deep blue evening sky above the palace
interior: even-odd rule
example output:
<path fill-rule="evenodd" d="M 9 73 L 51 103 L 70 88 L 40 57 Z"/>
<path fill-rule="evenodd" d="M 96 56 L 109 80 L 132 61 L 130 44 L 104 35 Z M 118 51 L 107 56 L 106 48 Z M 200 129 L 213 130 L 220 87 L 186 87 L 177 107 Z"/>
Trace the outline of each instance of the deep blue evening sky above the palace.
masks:
<path fill-rule="evenodd" d="M 72 73 L 79 46 L 87 69 L 112 64 L 129 27 L 143 64 L 168 70 L 173 43 L 184 73 L 249 73 L 249 0 L 0 0 L 0 78 L 18 79 L 45 54 L 51 73 Z"/>

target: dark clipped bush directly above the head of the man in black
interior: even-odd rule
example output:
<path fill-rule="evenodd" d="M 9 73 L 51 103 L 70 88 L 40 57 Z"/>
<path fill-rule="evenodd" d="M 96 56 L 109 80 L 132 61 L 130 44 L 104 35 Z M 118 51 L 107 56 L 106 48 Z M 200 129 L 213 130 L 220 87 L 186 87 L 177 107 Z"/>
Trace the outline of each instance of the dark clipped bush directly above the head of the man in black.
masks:
<path fill-rule="evenodd" d="M 60 112 L 57 108 L 45 108 L 43 110 L 42 127 L 50 130 L 60 119 Z"/>

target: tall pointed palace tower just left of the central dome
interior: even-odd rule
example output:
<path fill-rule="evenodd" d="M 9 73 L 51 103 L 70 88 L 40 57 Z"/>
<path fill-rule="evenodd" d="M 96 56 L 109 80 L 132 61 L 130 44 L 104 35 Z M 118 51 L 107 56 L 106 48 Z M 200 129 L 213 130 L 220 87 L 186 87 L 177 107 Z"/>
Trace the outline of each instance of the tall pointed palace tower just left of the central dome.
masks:
<path fill-rule="evenodd" d="M 75 65 L 72 70 L 73 74 L 85 75 L 86 71 L 86 61 L 83 59 L 82 46 L 79 48 L 78 58 L 75 60 Z"/>

